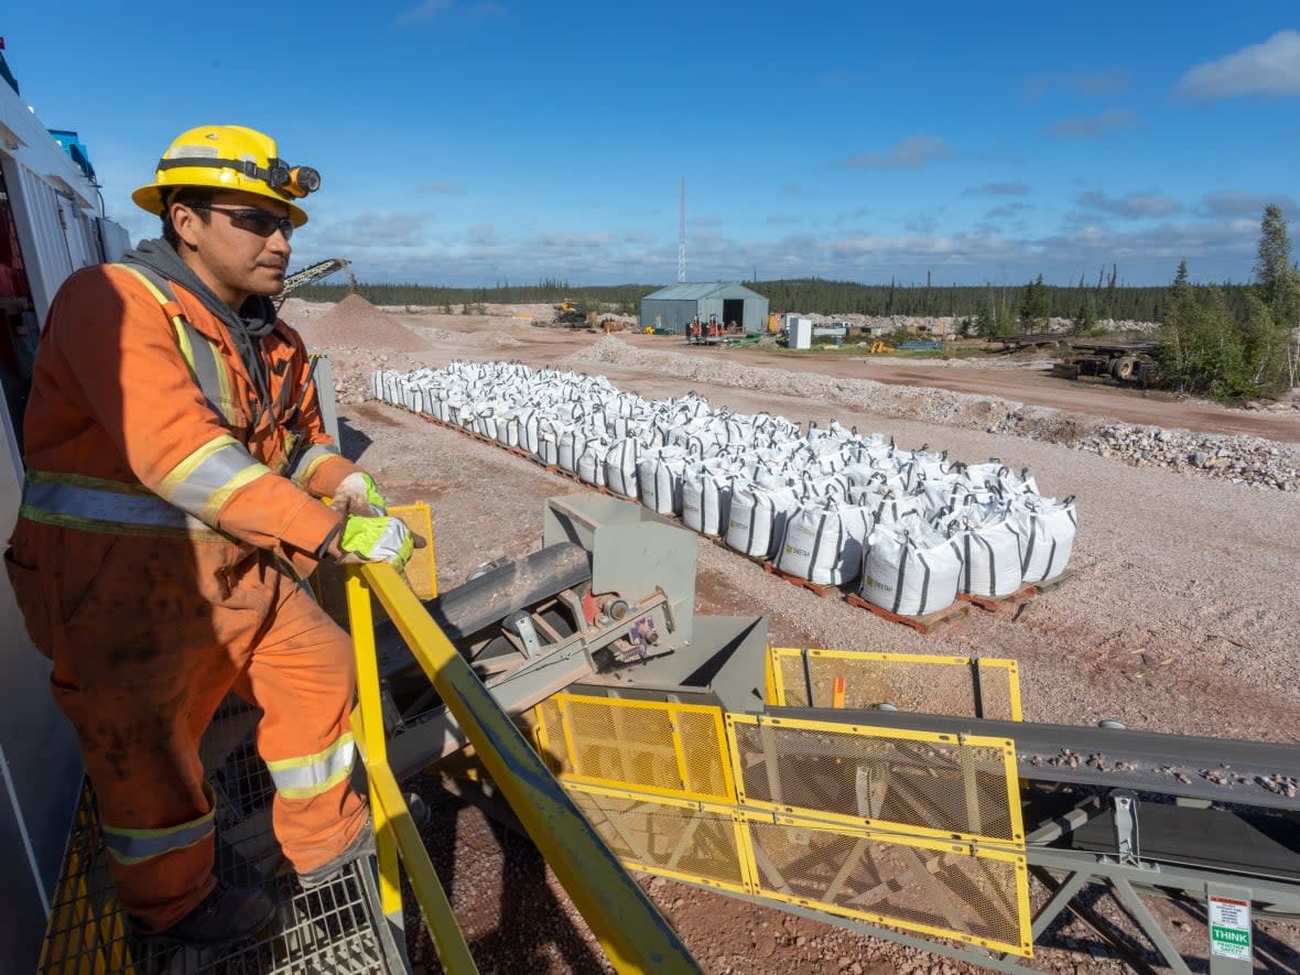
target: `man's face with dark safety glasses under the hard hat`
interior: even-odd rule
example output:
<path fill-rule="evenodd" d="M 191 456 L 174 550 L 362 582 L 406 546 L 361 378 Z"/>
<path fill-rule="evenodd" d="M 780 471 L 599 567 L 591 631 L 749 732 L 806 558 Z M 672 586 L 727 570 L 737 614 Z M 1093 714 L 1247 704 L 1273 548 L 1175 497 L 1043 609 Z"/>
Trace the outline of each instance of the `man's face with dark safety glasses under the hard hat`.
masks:
<path fill-rule="evenodd" d="M 250 295 L 278 294 L 285 283 L 292 248 L 264 214 L 283 218 L 289 207 L 257 194 L 230 191 L 217 194 L 211 205 L 176 204 L 172 211 L 176 231 L 188 244 L 181 248 L 181 257 L 235 309 Z"/>

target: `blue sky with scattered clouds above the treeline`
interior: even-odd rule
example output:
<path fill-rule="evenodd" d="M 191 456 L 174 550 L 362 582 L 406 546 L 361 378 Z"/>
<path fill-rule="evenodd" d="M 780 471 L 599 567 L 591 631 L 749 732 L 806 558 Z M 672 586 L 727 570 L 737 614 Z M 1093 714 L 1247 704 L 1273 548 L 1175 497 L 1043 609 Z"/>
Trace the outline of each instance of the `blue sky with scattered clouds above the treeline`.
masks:
<path fill-rule="evenodd" d="M 200 124 L 324 179 L 294 266 L 363 281 L 1247 281 L 1300 240 L 1300 5 L 10 4 L 21 95 L 109 216 Z M 13 9 L 17 8 L 17 9 Z"/>

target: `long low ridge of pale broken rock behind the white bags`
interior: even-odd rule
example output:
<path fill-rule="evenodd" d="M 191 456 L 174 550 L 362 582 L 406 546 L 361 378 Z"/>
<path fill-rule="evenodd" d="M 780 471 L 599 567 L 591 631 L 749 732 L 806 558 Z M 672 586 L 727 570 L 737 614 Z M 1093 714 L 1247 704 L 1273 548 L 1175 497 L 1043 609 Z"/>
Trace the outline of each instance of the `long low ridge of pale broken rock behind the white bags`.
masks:
<path fill-rule="evenodd" d="M 1139 467 L 1174 468 L 1260 489 L 1300 490 L 1300 448 L 1258 437 L 1169 430 L 1105 421 L 996 396 L 710 363 L 675 352 L 634 348 L 618 338 L 601 339 L 563 361 L 571 369 L 590 368 L 593 364 L 656 372 L 702 385 L 807 396 L 923 424 L 1062 443 Z"/>

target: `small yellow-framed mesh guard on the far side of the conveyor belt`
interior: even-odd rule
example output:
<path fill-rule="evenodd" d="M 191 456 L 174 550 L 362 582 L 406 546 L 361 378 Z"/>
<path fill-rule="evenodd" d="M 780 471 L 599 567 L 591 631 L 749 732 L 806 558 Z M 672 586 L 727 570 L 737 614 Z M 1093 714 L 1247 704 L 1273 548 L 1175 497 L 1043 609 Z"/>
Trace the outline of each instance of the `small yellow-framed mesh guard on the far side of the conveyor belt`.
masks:
<path fill-rule="evenodd" d="M 1006 659 L 772 647 L 767 703 L 846 708 L 888 703 L 902 711 L 1018 722 L 1020 680 L 1015 660 Z"/>

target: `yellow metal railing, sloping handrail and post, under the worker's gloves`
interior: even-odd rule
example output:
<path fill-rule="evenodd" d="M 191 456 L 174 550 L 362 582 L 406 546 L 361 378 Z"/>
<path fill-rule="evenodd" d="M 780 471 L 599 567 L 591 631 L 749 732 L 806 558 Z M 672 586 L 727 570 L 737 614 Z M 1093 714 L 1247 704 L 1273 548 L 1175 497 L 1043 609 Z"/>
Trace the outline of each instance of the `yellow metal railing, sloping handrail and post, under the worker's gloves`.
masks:
<path fill-rule="evenodd" d="M 636 884 L 573 800 L 529 748 L 510 716 L 391 566 L 347 571 L 347 608 L 356 647 L 359 707 L 354 715 L 370 780 L 384 913 L 402 910 L 398 855 L 448 972 L 477 971 L 433 863 L 387 766 L 370 595 L 385 608 L 446 702 L 524 829 L 555 871 L 618 971 L 698 972 L 676 932 Z"/>

